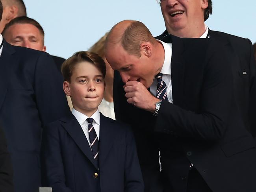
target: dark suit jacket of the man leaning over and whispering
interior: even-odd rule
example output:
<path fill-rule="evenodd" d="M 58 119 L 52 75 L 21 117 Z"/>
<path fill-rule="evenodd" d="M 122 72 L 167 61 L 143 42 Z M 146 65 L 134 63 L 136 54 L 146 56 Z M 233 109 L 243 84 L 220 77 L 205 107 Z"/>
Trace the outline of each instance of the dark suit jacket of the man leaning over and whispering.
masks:
<path fill-rule="evenodd" d="M 166 191 L 186 192 L 191 163 L 213 192 L 256 190 L 255 142 L 234 100 L 230 54 L 211 39 L 169 35 L 162 40 L 173 43 L 173 104 L 163 101 L 155 119 L 122 97 L 114 104 L 126 114 L 115 113 L 139 115 L 144 126 L 134 126 L 135 133 L 149 130 L 158 136 Z"/>

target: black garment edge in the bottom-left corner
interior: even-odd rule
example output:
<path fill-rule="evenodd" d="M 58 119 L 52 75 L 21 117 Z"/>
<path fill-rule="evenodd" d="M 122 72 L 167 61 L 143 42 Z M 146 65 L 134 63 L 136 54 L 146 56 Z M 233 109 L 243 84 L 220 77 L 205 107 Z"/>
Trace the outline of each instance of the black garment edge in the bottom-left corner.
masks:
<path fill-rule="evenodd" d="M 13 167 L 4 131 L 0 127 L 0 192 L 13 192 Z"/>

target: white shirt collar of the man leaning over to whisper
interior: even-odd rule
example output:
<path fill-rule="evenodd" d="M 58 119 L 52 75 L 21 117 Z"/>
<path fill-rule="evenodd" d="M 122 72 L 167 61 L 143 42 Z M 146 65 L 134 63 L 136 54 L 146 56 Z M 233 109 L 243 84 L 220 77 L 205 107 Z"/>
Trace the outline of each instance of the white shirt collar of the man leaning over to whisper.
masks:
<path fill-rule="evenodd" d="M 158 42 L 161 42 L 163 45 L 163 49 L 165 50 L 165 59 L 163 61 L 163 66 L 160 71 L 160 73 L 165 74 L 165 75 L 171 75 L 171 59 L 172 59 L 172 48 L 173 44 L 171 43 L 166 43 L 163 41 L 160 41 L 157 39 Z"/>

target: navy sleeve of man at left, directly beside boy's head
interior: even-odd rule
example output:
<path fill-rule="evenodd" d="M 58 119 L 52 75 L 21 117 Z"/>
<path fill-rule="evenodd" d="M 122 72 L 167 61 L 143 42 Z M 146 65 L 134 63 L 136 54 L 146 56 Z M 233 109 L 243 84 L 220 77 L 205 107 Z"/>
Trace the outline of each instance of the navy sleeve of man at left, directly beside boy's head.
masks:
<path fill-rule="evenodd" d="M 49 54 L 42 52 L 39 56 L 34 78 L 35 100 L 42 127 L 69 114 L 63 78 Z"/>

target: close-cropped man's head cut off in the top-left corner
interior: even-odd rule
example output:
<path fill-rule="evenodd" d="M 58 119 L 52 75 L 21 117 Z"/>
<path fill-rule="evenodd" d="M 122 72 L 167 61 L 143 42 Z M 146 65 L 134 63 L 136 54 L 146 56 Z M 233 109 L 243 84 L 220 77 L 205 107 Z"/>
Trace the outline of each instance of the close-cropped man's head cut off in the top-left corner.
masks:
<path fill-rule="evenodd" d="M 0 22 L 0 33 L 4 26 L 16 17 L 26 16 L 26 7 L 22 0 L 1 0 L 3 4 L 2 20 Z"/>

